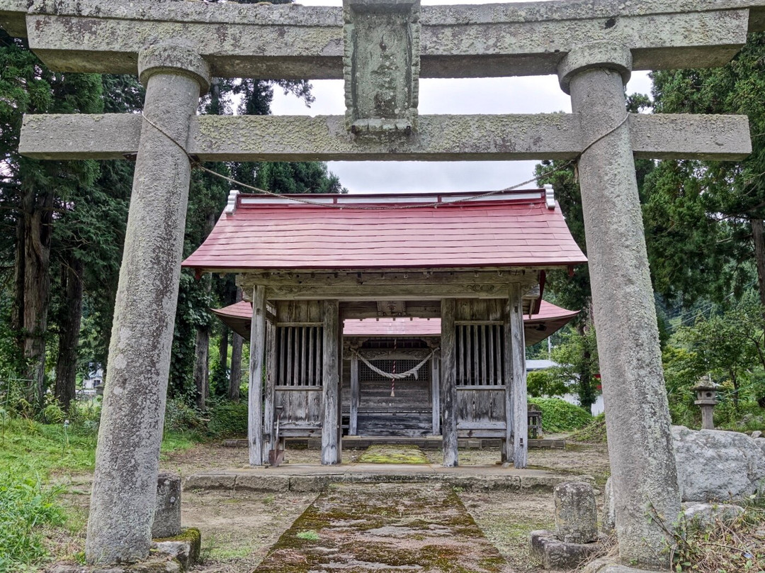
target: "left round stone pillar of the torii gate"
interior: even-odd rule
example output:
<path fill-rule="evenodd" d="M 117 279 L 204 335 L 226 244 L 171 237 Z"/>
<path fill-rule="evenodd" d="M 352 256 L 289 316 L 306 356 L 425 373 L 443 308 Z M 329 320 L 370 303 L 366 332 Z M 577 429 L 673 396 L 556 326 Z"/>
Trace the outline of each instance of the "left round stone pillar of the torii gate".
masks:
<path fill-rule="evenodd" d="M 138 71 L 145 119 L 109 344 L 89 563 L 148 556 L 191 173 L 186 152 L 168 136 L 185 144 L 210 81 L 210 67 L 185 47 L 142 50 Z"/>

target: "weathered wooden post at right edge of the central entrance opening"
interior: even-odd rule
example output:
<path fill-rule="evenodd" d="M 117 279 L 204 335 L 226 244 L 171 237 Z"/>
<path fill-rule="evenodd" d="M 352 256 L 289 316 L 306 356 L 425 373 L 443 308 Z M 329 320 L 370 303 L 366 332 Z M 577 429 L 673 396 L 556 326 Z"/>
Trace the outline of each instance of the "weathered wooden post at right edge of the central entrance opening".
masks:
<path fill-rule="evenodd" d="M 457 457 L 457 360 L 454 348 L 455 299 L 441 300 L 441 437 L 444 467 L 456 467 Z"/>

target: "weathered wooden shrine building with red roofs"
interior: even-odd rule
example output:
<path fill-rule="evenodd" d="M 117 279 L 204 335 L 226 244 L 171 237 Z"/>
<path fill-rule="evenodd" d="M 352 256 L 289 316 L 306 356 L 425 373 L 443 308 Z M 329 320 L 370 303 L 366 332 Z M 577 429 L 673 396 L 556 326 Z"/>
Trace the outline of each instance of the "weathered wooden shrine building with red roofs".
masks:
<path fill-rule="evenodd" d="M 440 435 L 444 465 L 457 437 L 499 437 L 525 467 L 525 345 L 576 315 L 542 301 L 545 272 L 584 262 L 548 187 L 232 192 L 184 267 L 245 293 L 216 314 L 250 340 L 250 463 L 278 418 L 282 437 L 321 436 L 322 463 L 343 437 Z"/>

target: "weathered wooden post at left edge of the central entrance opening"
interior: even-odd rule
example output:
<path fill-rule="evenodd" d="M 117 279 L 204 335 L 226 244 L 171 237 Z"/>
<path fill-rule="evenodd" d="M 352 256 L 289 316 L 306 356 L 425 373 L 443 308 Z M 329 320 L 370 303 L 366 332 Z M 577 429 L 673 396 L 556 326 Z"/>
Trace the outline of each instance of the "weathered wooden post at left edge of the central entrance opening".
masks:
<path fill-rule="evenodd" d="M 321 463 L 325 466 L 340 463 L 337 443 L 337 403 L 340 401 L 340 368 L 337 365 L 337 331 L 340 326 L 337 300 L 324 301 L 324 366 L 321 385 L 324 396 L 324 420 L 321 423 Z"/>

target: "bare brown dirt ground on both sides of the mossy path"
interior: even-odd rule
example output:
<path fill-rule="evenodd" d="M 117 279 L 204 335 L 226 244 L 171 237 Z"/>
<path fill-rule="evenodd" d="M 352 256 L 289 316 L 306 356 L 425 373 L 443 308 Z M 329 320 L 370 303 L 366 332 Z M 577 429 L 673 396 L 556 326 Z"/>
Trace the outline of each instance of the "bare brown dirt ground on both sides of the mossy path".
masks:
<path fill-rule="evenodd" d="M 352 463 L 363 450 L 343 452 L 343 463 Z M 439 463 L 441 452 L 425 450 L 431 463 Z M 288 463 L 317 463 L 318 450 L 290 448 Z M 499 450 L 461 450 L 460 464 L 491 465 L 500 459 Z M 597 486 L 608 474 L 608 456 L 604 445 L 569 444 L 565 450 L 529 450 L 529 466 L 560 473 L 594 476 Z M 162 470 L 181 476 L 211 470 L 247 467 L 247 451 L 200 444 L 189 450 L 163 454 Z M 83 551 L 90 474 L 67 476 L 66 503 L 75 519 L 66 530 L 51 539 L 57 558 Z M 552 527 L 553 506 L 550 493 L 461 492 L 457 491 L 467 511 L 487 539 L 506 558 L 507 571 L 541 573 L 539 564 L 529 556 L 528 535 L 533 529 Z M 278 542 L 295 519 L 316 499 L 315 493 L 228 493 L 184 492 L 184 526 L 202 532 L 202 560 L 194 571 L 203 573 L 249 573 Z"/>

